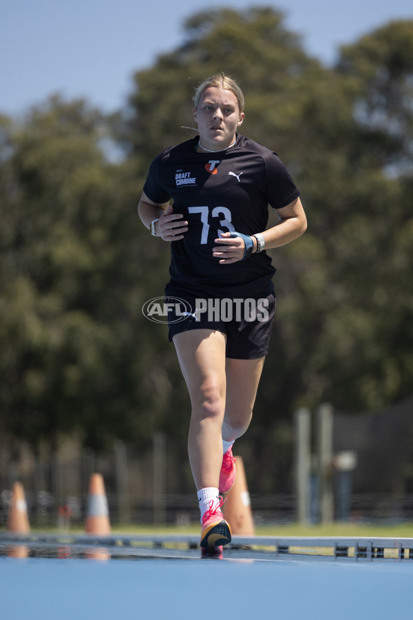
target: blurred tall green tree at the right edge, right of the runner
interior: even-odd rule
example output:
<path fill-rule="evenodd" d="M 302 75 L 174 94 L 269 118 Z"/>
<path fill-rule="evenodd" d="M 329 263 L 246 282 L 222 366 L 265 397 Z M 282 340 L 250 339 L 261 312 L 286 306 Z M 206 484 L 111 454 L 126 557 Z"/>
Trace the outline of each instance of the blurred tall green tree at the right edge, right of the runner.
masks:
<path fill-rule="evenodd" d="M 322 378 L 314 395 L 349 410 L 412 390 L 412 49 L 413 21 L 394 22 L 343 48 L 337 65 L 352 84 L 354 129 L 341 139 L 348 187 L 343 208 L 332 206 L 330 303 L 306 372 L 309 386 Z"/>

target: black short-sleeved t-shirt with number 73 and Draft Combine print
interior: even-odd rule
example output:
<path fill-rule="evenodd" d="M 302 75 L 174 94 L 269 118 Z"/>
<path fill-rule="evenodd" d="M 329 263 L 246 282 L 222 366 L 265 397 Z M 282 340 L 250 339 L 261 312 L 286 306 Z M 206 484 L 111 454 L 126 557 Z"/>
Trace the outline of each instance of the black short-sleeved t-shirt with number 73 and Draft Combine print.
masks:
<path fill-rule="evenodd" d="M 299 191 L 277 154 L 237 135 L 235 146 L 197 153 L 199 136 L 165 149 L 151 163 L 143 191 L 154 203 L 173 199 L 173 211 L 188 221 L 171 242 L 170 285 L 217 297 L 260 296 L 272 287 L 275 268 L 265 251 L 220 265 L 212 256 L 219 231 L 262 232 L 268 204 L 282 209 Z"/>

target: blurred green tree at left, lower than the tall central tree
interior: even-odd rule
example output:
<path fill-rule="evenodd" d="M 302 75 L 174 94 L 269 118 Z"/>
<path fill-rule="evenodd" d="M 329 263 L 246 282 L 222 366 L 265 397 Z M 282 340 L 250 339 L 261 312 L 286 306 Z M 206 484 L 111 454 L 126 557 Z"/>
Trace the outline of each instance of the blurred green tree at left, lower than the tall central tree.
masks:
<path fill-rule="evenodd" d="M 34 447 L 149 440 L 170 389 L 140 311 L 160 259 L 140 242 L 139 181 L 105 156 L 110 127 L 56 98 L 2 122 L 1 435 Z"/>

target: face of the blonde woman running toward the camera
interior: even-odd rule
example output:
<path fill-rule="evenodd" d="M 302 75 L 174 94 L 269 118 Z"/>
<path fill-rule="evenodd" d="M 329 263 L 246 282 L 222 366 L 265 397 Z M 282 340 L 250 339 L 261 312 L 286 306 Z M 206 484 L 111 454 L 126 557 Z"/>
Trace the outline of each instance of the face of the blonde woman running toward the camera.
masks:
<path fill-rule="evenodd" d="M 233 143 L 244 112 L 240 112 L 232 90 L 210 86 L 202 93 L 198 108 L 193 108 L 193 117 L 198 123 L 202 145 L 219 150 Z"/>

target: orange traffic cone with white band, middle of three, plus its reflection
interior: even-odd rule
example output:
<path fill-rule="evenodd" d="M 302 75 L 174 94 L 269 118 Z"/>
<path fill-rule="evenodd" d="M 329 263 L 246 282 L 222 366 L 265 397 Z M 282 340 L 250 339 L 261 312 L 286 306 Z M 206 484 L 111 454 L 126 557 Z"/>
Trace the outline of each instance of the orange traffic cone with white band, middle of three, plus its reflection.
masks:
<path fill-rule="evenodd" d="M 105 536 L 110 534 L 109 508 L 105 493 L 105 484 L 101 474 L 92 474 L 89 480 L 85 532 Z M 109 559 L 105 548 L 88 549 L 86 557 L 92 559 Z"/>

